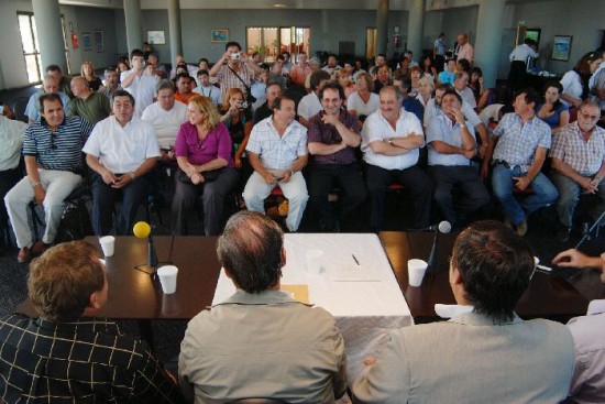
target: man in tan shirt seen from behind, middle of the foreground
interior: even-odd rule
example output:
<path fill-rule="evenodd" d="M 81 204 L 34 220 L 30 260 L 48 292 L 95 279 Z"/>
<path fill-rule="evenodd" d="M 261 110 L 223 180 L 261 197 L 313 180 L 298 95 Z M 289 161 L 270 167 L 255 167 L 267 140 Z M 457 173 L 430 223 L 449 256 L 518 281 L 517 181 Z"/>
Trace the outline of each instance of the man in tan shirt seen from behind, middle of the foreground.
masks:
<path fill-rule="evenodd" d="M 344 341 L 334 318 L 279 291 L 284 233 L 258 212 L 233 215 L 217 245 L 237 287 L 189 321 L 178 374 L 196 403 L 272 397 L 334 403 L 346 390 Z"/>

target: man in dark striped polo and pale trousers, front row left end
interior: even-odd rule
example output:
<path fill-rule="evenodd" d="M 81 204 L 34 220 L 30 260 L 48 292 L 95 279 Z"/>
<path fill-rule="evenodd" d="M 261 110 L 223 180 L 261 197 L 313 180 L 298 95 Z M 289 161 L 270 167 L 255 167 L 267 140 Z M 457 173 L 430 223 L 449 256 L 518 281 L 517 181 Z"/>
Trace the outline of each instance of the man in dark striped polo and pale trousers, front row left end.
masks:
<path fill-rule="evenodd" d="M 55 240 L 63 214 L 63 200 L 80 182 L 84 168 L 81 148 L 92 124 L 80 117 L 65 117 L 58 95 L 40 97 L 42 119 L 25 130 L 23 155 L 28 175 L 4 197 L 7 210 L 19 245 L 19 262 L 30 252 L 42 253 Z M 28 222 L 28 204 L 31 200 L 44 206 L 46 229 L 42 240 L 33 244 Z"/>

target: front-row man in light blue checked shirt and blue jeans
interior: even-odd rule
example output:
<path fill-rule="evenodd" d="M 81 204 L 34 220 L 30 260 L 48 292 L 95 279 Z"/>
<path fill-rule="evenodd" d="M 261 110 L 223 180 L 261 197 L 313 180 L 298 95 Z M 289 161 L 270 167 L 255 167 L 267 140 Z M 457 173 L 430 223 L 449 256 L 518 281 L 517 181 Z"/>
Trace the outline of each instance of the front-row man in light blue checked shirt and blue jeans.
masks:
<path fill-rule="evenodd" d="M 538 95 L 532 88 L 520 90 L 515 98 L 515 112 L 507 113 L 494 129 L 498 137 L 496 149 L 493 138 L 486 159 L 494 151 L 492 187 L 505 214 L 505 225 L 515 226 L 517 234 L 527 232 L 527 216 L 557 200 L 557 188 L 540 172 L 550 149 L 550 127 L 536 117 L 534 109 Z M 519 199 L 513 194 L 514 187 L 532 189 L 530 195 Z"/>

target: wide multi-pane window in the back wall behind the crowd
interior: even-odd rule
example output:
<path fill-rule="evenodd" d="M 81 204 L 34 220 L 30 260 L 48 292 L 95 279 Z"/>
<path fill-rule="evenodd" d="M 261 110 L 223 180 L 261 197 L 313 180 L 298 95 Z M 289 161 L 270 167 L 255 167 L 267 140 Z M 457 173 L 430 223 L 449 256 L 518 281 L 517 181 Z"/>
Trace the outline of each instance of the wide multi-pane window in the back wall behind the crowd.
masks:
<path fill-rule="evenodd" d="M 246 52 L 250 55 L 260 52 L 263 62 L 272 63 L 275 56 L 287 51 L 290 53 L 290 61 L 296 63 L 300 52 L 309 54 L 310 31 L 299 26 L 248 28 Z"/>

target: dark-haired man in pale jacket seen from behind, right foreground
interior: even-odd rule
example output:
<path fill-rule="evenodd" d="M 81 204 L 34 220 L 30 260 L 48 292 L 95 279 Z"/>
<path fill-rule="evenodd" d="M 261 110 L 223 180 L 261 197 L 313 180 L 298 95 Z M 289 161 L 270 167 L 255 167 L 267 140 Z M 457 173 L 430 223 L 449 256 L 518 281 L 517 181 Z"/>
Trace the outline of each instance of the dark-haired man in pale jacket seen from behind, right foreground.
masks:
<path fill-rule="evenodd" d="M 352 384 L 353 403 L 559 403 L 570 389 L 573 340 L 562 324 L 525 321 L 515 306 L 534 272 L 530 245 L 497 221 L 455 240 L 450 286 L 474 306 L 447 323 L 392 331 Z"/>

